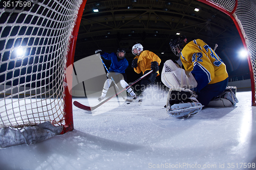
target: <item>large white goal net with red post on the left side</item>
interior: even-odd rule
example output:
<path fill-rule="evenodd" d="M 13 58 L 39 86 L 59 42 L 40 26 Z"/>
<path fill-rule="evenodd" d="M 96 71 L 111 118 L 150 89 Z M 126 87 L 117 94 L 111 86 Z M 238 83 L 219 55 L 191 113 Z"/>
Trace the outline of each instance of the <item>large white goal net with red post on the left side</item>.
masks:
<path fill-rule="evenodd" d="M 86 1 L 0 2 L 0 128 L 50 122 L 73 130 L 66 68 Z M 81 7 L 81 8 L 80 8 Z"/>

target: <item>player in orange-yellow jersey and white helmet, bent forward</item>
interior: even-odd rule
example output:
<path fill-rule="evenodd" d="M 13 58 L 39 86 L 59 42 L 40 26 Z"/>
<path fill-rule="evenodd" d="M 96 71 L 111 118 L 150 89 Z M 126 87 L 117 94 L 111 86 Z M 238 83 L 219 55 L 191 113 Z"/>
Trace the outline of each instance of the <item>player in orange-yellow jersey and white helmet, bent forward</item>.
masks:
<path fill-rule="evenodd" d="M 137 74 L 140 72 L 146 74 L 150 70 L 153 72 L 147 75 L 145 78 L 141 79 L 141 90 L 143 91 L 147 85 L 154 83 L 157 76 L 159 76 L 159 65 L 161 63 L 161 59 L 148 50 L 143 51 L 143 46 L 140 43 L 137 43 L 132 48 L 132 53 L 136 57 L 132 61 L 132 67 Z"/>

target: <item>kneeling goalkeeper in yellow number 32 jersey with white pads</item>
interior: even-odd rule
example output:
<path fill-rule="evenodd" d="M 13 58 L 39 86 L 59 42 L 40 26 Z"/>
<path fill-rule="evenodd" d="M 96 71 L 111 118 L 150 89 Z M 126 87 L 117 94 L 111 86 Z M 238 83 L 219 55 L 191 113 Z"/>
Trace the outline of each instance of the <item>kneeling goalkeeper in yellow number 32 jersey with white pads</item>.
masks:
<path fill-rule="evenodd" d="M 209 45 L 201 39 L 187 43 L 186 37 L 180 35 L 170 40 L 170 48 L 179 63 L 167 60 L 162 70 L 161 80 L 170 88 L 166 103 L 170 115 L 189 116 L 203 106 L 238 103 L 233 92 L 236 88 L 227 87 L 226 65 Z"/>

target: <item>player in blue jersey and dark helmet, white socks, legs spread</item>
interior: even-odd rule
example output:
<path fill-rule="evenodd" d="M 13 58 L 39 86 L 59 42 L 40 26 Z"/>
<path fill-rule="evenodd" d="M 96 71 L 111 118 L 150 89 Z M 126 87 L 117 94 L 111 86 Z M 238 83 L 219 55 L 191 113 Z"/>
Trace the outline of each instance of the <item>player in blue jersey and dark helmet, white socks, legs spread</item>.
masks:
<path fill-rule="evenodd" d="M 101 93 L 101 96 L 98 98 L 99 101 L 105 98 L 106 92 L 108 92 L 109 87 L 112 83 L 111 77 L 114 79 L 116 83 L 120 82 L 121 86 L 125 88 L 128 86 L 127 82 L 127 77 L 125 74 L 125 69 L 128 67 L 129 63 L 125 59 L 125 51 L 123 48 L 118 48 L 116 53 L 105 53 L 102 50 L 96 50 L 95 54 L 100 54 L 101 57 L 103 57 L 106 60 L 111 60 L 111 65 L 110 65 L 110 75 L 108 75 L 108 79 L 105 81 L 103 90 Z M 136 94 L 132 90 L 132 88 L 127 88 L 126 91 L 133 97 L 135 100 L 137 98 Z"/>

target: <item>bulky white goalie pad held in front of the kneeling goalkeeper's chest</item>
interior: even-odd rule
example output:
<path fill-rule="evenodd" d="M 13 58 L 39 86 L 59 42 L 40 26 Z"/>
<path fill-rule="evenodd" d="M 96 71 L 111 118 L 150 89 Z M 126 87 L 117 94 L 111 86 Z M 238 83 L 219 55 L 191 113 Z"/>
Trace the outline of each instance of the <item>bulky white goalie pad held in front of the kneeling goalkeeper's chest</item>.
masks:
<path fill-rule="evenodd" d="M 172 60 L 167 60 L 164 63 L 161 81 L 169 88 L 181 87 L 191 89 L 197 87 L 197 81 L 191 72 L 186 72 Z"/>

